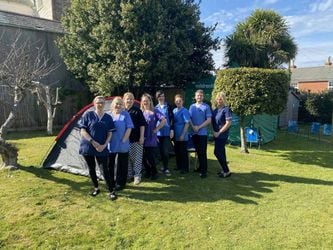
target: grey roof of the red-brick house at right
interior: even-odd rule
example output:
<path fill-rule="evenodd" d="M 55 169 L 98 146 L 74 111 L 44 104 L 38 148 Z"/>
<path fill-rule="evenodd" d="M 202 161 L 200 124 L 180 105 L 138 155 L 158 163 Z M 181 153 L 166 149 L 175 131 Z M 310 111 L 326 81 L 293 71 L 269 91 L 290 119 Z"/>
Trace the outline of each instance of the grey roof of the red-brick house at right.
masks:
<path fill-rule="evenodd" d="M 333 65 L 291 69 L 291 83 L 310 81 L 333 81 Z"/>

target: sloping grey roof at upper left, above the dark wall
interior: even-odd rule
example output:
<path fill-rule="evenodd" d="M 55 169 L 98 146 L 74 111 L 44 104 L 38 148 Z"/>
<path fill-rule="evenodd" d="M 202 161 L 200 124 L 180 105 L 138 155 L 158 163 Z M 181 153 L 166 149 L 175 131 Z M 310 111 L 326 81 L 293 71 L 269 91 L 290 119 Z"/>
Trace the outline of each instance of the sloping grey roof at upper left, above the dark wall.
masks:
<path fill-rule="evenodd" d="M 58 21 L 0 11 L 0 26 L 11 26 L 32 30 L 42 30 L 54 33 L 63 33 L 61 23 Z"/>

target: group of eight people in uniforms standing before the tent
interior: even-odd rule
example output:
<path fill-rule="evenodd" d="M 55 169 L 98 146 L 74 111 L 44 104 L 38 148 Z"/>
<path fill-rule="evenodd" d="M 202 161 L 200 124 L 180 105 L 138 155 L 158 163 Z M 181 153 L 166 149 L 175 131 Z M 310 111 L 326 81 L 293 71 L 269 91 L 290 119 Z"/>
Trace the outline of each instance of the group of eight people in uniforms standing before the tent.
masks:
<path fill-rule="evenodd" d="M 96 162 L 102 170 L 109 190 L 109 198 L 117 198 L 116 191 L 125 188 L 128 181 L 141 183 L 142 173 L 152 180 L 157 178 L 155 162 L 159 148 L 162 172 L 171 174 L 168 166 L 171 142 L 176 155 L 176 170 L 189 172 L 188 141 L 192 139 L 199 167 L 195 171 L 201 178 L 207 177 L 208 126 L 211 124 L 215 141 L 214 154 L 221 165 L 218 176 L 231 175 L 226 159 L 225 144 L 228 140 L 232 112 L 223 92 L 216 95 L 216 108 L 211 111 L 204 103 L 203 90 L 195 92 L 195 103 L 189 109 L 184 107 L 184 98 L 174 97 L 175 108 L 165 101 L 163 91 L 156 92 L 157 105 L 149 94 L 141 97 L 140 108 L 134 105 L 134 95 L 127 92 L 115 97 L 111 109 L 105 112 L 105 99 L 96 96 L 94 110 L 84 114 L 79 122 L 81 142 L 79 153 L 84 157 L 94 185 L 90 193 L 100 193 L 96 174 Z M 189 132 L 190 127 L 192 128 Z"/>

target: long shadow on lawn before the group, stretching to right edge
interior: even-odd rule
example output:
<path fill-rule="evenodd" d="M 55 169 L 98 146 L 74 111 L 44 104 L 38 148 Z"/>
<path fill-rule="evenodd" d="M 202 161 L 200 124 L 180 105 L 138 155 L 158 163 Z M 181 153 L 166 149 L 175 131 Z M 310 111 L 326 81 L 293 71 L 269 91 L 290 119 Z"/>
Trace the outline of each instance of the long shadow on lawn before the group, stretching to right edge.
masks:
<path fill-rule="evenodd" d="M 144 180 L 145 181 L 145 180 Z M 147 182 L 151 182 L 147 180 Z M 230 178 L 221 179 L 216 173 L 209 173 L 206 179 L 189 173 L 181 176 L 174 174 L 171 178 L 161 177 L 158 186 L 129 186 L 121 195 L 144 201 L 176 202 L 215 202 L 230 200 L 241 204 L 256 205 L 258 199 L 272 193 L 281 182 L 309 185 L 333 185 L 333 181 L 301 178 L 288 175 L 268 174 L 263 172 L 233 173 Z"/>

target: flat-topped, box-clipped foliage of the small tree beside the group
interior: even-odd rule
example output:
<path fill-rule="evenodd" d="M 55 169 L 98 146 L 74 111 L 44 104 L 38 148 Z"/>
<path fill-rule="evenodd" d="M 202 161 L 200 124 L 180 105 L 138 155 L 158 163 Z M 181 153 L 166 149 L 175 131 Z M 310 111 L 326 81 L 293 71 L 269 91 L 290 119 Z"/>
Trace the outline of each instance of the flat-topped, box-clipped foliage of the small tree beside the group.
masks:
<path fill-rule="evenodd" d="M 240 116 L 280 114 L 288 98 L 289 75 L 285 70 L 235 68 L 218 72 L 212 101 L 223 91 L 232 111 Z"/>

